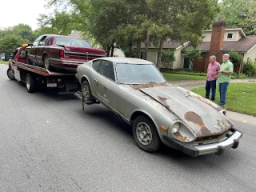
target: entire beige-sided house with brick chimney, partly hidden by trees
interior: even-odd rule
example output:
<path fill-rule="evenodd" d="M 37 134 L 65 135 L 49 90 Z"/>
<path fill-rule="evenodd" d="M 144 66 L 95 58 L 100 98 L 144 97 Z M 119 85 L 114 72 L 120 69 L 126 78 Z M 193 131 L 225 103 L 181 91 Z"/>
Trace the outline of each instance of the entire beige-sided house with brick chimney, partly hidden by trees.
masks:
<path fill-rule="evenodd" d="M 202 50 L 202 59 L 194 63 L 194 71 L 206 72 L 209 63 L 210 55 L 214 54 L 218 62 L 222 61 L 222 54 L 228 53 L 230 50 L 238 51 L 242 54 L 242 63 L 251 59 L 256 62 L 256 36 L 246 36 L 242 28 L 226 28 L 226 22 L 222 19 L 218 19 L 214 22 L 212 30 L 205 30 L 202 38 L 202 43 L 198 45 L 198 48 Z M 168 39 L 163 44 L 163 50 L 174 50 L 176 61 L 170 65 L 170 69 L 190 69 L 189 58 L 184 58 L 182 53 L 186 49 L 191 48 L 189 42 L 180 44 L 178 42 L 172 42 Z M 143 58 L 143 49 L 145 45 L 142 43 L 141 58 Z M 150 44 L 148 50 L 148 58 L 150 62 L 157 62 L 158 46 Z M 164 66 L 160 66 L 163 68 Z M 234 70 L 238 71 L 239 66 L 234 66 Z"/>

